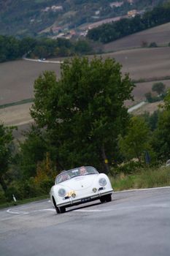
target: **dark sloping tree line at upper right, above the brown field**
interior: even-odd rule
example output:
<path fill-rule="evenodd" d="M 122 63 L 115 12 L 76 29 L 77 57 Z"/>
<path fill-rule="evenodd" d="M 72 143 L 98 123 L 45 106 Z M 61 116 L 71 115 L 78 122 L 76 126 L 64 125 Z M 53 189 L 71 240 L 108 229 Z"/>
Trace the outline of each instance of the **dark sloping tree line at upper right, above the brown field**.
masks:
<path fill-rule="evenodd" d="M 170 4 L 160 4 L 152 11 L 145 12 L 144 15 L 136 15 L 134 18 L 123 18 L 112 23 L 105 23 L 95 29 L 90 29 L 87 37 L 94 41 L 107 43 L 129 34 L 168 23 L 169 21 Z"/>

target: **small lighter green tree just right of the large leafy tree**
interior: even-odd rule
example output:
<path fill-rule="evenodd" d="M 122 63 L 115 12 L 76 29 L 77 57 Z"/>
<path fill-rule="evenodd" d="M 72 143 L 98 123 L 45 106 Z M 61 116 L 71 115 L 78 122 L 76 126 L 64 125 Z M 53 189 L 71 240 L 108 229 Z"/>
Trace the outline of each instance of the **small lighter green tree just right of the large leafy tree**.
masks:
<path fill-rule="evenodd" d="M 150 129 L 144 118 L 134 116 L 131 118 L 127 135 L 120 136 L 120 151 L 127 159 L 137 158 L 142 165 L 142 157 L 145 151 L 150 151 Z"/>

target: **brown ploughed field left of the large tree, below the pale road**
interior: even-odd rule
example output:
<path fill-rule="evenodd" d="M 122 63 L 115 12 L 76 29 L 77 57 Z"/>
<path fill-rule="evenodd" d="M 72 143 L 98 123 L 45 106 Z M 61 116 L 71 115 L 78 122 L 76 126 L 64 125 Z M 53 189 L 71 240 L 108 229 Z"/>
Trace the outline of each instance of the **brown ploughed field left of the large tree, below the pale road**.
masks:
<path fill-rule="evenodd" d="M 10 61 L 0 64 L 0 105 L 34 97 L 34 80 L 45 70 L 60 75 L 60 64 Z"/>

